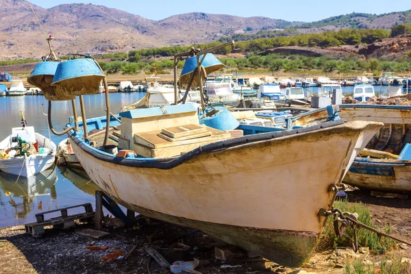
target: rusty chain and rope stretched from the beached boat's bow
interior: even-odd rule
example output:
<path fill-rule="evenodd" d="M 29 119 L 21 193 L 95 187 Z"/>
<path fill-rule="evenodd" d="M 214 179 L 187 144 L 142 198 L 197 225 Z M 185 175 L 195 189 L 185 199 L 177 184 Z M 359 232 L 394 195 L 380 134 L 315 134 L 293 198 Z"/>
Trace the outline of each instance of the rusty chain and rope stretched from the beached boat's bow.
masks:
<path fill-rule="evenodd" d="M 396 236 L 392 236 L 390 234 L 387 234 L 385 232 L 380 232 L 379 230 L 375 229 L 374 227 L 370 227 L 369 225 L 365 225 L 364 223 L 361 223 L 358 221 L 358 214 L 357 213 L 350 213 L 350 212 L 342 212 L 338 208 L 332 208 L 332 210 L 321 210 L 320 214 L 322 216 L 331 216 L 334 215 L 334 230 L 336 232 L 336 235 L 338 237 L 342 236 L 344 233 L 344 230 L 351 226 L 354 229 L 354 251 L 358 251 L 358 238 L 357 238 L 357 232 L 360 227 L 364 229 L 368 229 L 371 232 L 376 233 L 379 237 L 384 236 L 386 238 L 391 238 L 393 240 L 396 240 L 397 242 L 401 242 L 403 244 L 409 245 L 411 247 L 411 242 L 408 242 L 406 240 L 402 240 L 400 238 L 397 238 Z"/>

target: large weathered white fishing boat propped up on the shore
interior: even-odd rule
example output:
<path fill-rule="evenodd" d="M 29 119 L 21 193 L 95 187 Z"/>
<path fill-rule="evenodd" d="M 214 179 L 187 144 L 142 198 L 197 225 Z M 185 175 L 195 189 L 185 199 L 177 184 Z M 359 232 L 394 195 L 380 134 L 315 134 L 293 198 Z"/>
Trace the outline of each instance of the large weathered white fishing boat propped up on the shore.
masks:
<path fill-rule="evenodd" d="M 219 47 L 228 45 L 234 42 Z M 175 55 L 175 70 L 183 55 L 197 58 L 197 68 L 184 74 L 180 84 L 197 83 L 201 95 L 203 81 L 213 71 L 212 65 L 201 65 L 210 51 Z M 288 266 L 310 259 L 325 223 L 320 212 L 332 206 L 357 152 L 382 126 L 340 120 L 292 130 L 259 127 L 240 132 L 247 128 L 227 109 L 209 108 L 203 97 L 201 105 L 178 105 L 177 81 L 176 105 L 127 110 L 118 120 L 110 116 L 106 93 L 107 115 L 86 119 L 82 96 L 94 92 L 101 80 L 107 85 L 97 63 L 94 68 L 83 64 L 91 61 L 61 62 L 49 73 L 35 69 L 28 81 L 40 85 L 45 76 L 54 75 L 43 90 L 53 99 L 72 100 L 75 117 L 74 99 L 79 95 L 84 123 L 73 121 L 63 132 L 55 132 L 49 101 L 49 126 L 55 134 L 69 134 L 75 155 L 101 190 L 140 214 L 201 229 Z M 110 145 L 109 129 L 116 125 L 121 125 L 121 134 L 118 144 Z M 101 146 L 88 132 L 104 127 Z M 307 195 L 310 199 L 301 199 Z"/>

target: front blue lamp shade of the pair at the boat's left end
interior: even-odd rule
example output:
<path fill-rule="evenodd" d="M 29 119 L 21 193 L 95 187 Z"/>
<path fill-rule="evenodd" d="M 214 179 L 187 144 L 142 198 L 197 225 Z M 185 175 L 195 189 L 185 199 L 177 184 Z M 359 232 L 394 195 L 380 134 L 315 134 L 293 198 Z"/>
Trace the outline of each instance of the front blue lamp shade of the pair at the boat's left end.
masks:
<path fill-rule="evenodd" d="M 59 100 L 71 100 L 77 95 L 99 92 L 100 82 L 104 77 L 95 60 L 74 59 L 58 64 L 51 86 Z"/>

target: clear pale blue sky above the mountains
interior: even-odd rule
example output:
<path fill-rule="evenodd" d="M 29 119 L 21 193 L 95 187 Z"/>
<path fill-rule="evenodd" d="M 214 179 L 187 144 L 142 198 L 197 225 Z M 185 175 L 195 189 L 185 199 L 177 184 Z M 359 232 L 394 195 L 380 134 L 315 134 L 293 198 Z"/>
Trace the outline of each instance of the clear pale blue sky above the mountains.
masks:
<path fill-rule="evenodd" d="M 151 20 L 161 20 L 175 14 L 188 12 L 206 12 L 243 17 L 266 16 L 286 21 L 311 22 L 351 12 L 382 14 L 411 9 L 410 0 L 88 0 L 86 2 L 76 0 L 73 0 L 73 2 L 70 0 L 32 0 L 31 2 L 42 8 L 51 8 L 62 3 L 92 3 L 125 10 Z M 200 3 L 206 3 L 206 5 L 201 6 Z"/>

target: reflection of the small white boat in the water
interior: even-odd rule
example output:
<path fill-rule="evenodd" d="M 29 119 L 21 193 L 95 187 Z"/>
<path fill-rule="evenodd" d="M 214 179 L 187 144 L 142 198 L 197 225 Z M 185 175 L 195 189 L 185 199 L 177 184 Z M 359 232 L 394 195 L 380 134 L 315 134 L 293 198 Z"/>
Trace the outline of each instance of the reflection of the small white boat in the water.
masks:
<path fill-rule="evenodd" d="M 3 190 L 3 196 L 0 193 L 0 205 L 8 203 L 16 219 L 25 219 L 32 211 L 35 197 L 50 195 L 51 200 L 57 199 L 54 186 L 57 179 L 54 167 L 28 178 L 0 172 L 0 188 Z M 37 209 L 42 210 L 42 201 L 37 204 Z"/>

